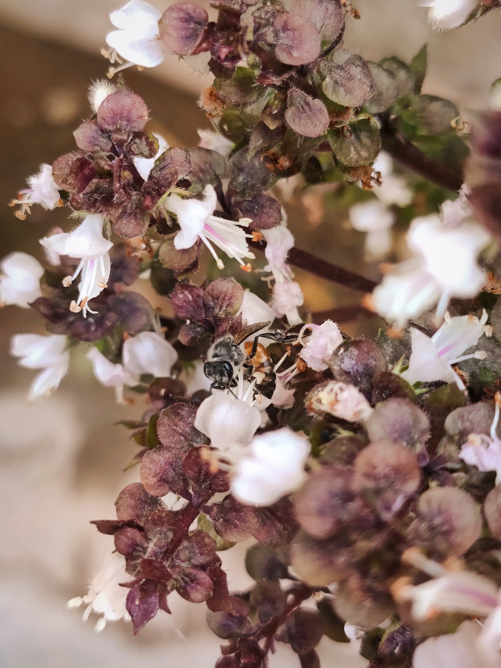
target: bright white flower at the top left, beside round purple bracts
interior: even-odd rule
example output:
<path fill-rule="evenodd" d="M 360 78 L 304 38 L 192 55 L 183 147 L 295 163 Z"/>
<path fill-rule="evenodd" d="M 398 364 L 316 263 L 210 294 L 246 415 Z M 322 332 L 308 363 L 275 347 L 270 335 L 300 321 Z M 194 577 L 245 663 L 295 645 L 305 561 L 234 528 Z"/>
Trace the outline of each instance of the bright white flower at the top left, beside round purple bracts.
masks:
<path fill-rule="evenodd" d="M 164 45 L 158 31 L 162 13 L 142 0 L 131 0 L 118 11 L 112 11 L 110 21 L 118 28 L 106 35 L 106 43 L 112 47 L 109 54 L 112 62 L 116 53 L 128 63 L 114 67 L 114 74 L 130 65 L 156 67 L 164 60 Z"/>

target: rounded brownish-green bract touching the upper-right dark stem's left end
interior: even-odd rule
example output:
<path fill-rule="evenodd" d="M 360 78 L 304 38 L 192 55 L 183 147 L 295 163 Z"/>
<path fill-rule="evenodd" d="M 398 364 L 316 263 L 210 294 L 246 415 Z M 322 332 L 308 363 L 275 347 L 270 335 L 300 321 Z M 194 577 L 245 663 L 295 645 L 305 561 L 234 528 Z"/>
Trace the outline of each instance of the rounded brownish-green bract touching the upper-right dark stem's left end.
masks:
<path fill-rule="evenodd" d="M 379 129 L 373 118 L 352 123 L 347 128 L 327 132 L 327 140 L 334 155 L 348 167 L 368 165 L 381 150 Z"/>

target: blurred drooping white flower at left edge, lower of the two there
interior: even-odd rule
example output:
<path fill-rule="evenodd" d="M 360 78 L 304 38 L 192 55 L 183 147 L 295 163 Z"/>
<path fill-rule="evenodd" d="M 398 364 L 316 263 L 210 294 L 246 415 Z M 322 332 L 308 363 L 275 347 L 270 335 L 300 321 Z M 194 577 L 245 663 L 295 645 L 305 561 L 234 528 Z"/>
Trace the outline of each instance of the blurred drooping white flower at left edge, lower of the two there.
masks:
<path fill-rule="evenodd" d="M 12 337 L 10 353 L 21 358 L 19 365 L 26 369 L 42 369 L 31 383 L 29 401 L 49 395 L 59 387 L 69 365 L 65 347 L 66 337 L 59 334 L 17 334 Z"/>

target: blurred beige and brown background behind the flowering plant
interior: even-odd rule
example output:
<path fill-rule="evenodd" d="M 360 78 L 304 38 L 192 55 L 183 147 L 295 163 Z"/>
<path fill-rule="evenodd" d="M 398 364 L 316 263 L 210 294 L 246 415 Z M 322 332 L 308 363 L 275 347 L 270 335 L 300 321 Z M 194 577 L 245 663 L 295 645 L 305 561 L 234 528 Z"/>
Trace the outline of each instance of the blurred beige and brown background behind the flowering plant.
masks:
<path fill-rule="evenodd" d="M 169 4 L 152 0 L 158 9 Z M 204 5 L 203 0 L 199 4 Z M 450 33 L 432 33 L 426 10 L 414 0 L 355 0 L 361 21 L 349 21 L 345 45 L 369 59 L 397 55 L 408 61 L 429 45 L 425 92 L 448 97 L 463 110 L 486 106 L 490 83 L 501 76 L 501 53 L 495 48 L 501 15 Z M 107 63 L 100 48 L 111 29 L 114 0 L 0 0 L 0 238 L 1 256 L 13 250 L 32 253 L 43 262 L 37 240 L 49 226 L 67 228 L 65 212 L 34 207 L 27 220 L 13 216 L 7 202 L 24 187 L 41 162 L 73 150 L 72 131 L 90 115 L 90 81 L 103 77 Z M 126 81 L 151 110 L 153 130 L 170 144 L 198 142 L 197 128 L 208 127 L 196 96 L 210 85 L 176 57 L 151 70 L 126 72 Z M 347 230 L 343 214 L 329 212 L 315 224 L 300 204 L 289 210 L 298 245 L 345 267 L 377 277 L 377 267 L 353 265 L 363 235 Z M 297 273 L 311 311 L 354 303 L 357 293 L 337 289 Z M 160 304 L 161 305 L 161 304 Z M 352 325 L 359 331 L 361 325 Z M 370 327 L 374 327 L 369 323 Z M 345 329 L 349 329 L 346 327 Z M 114 404 L 112 389 L 98 385 L 81 353 L 53 396 L 28 405 L 33 371 L 9 357 L 13 333 L 43 333 L 41 319 L 29 310 L 0 311 L 0 665 L 9 668 L 110 668 L 197 663 L 210 667 L 218 641 L 204 627 L 203 606 L 174 605 L 174 615 L 159 613 L 137 638 L 122 623 L 94 632 L 80 611 L 68 611 L 68 599 L 88 591 L 88 581 L 112 548 L 89 524 L 114 517 L 114 500 L 138 471 L 124 466 L 136 452 L 116 420 L 138 418 L 136 405 Z M 235 589 L 246 586 L 242 546 L 224 553 Z M 321 645 L 324 665 L 365 665 L 353 648 Z M 279 648 L 272 667 L 296 665 L 287 648 Z M 337 663 L 336 663 L 337 661 Z"/>

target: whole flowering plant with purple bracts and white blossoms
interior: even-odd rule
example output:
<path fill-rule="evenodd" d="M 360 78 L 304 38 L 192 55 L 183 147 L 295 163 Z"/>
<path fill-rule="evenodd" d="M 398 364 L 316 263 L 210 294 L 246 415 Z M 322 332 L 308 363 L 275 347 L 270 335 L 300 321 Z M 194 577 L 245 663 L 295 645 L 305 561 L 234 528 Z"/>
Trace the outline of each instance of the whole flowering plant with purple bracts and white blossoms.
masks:
<path fill-rule="evenodd" d="M 425 6 L 445 29 L 498 4 Z M 122 75 L 96 81 L 77 150 L 12 202 L 20 220 L 35 204 L 71 220 L 40 240 L 49 269 L 0 262 L 1 305 L 46 321 L 11 341 L 38 371 L 29 399 L 57 389 L 79 345 L 99 383 L 142 407 L 122 420 L 138 482 L 94 522 L 113 544 L 68 605 L 138 633 L 174 593 L 204 604 L 226 641 L 218 668 L 267 668 L 278 642 L 316 668 L 323 638 L 371 667 L 494 668 L 501 112 L 479 115 L 466 146 L 454 104 L 422 93 L 426 49 L 408 64 L 349 50 L 347 0 L 210 5 L 132 0 L 106 37 L 110 79 L 172 54 L 212 72 L 198 146 L 150 132 Z M 322 258 L 295 247 L 307 222 L 287 226 L 291 185 L 317 186 L 333 213 L 315 230 Z M 329 261 L 351 243 L 347 218 L 369 259 L 401 258 L 405 234 L 379 285 Z M 296 267 L 371 294 L 315 312 Z M 389 325 L 375 340 L 373 314 Z M 220 552 L 247 540 L 253 584 L 232 593 Z"/>

